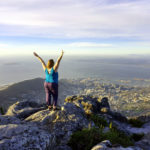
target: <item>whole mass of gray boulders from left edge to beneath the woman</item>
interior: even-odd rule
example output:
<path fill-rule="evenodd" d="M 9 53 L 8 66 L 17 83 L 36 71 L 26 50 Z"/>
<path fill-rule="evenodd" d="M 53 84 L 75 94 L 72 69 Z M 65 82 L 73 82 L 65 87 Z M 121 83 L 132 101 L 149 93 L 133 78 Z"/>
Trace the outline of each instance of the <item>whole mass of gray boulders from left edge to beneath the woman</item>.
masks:
<path fill-rule="evenodd" d="M 27 111 L 29 107 L 32 111 Z M 0 116 L 0 149 L 69 150 L 67 142 L 72 133 L 88 124 L 84 111 L 73 103 L 49 111 L 36 103 L 17 102 Z"/>

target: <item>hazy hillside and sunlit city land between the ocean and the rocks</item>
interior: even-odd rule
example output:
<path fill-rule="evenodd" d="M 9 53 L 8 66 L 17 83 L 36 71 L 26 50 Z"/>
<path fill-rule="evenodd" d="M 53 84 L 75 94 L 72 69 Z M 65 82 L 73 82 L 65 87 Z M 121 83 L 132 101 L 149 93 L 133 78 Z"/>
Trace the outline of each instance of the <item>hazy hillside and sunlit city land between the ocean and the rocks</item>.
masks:
<path fill-rule="evenodd" d="M 44 79 L 36 78 L 15 83 L 0 91 L 0 107 L 6 111 L 10 105 L 20 100 L 45 103 Z M 112 110 L 125 116 L 150 114 L 150 88 L 134 87 L 112 83 L 99 78 L 60 79 L 59 105 L 69 95 L 93 95 L 108 97 Z"/>

